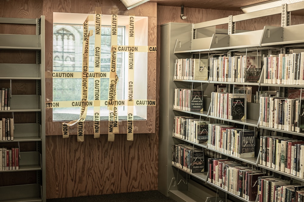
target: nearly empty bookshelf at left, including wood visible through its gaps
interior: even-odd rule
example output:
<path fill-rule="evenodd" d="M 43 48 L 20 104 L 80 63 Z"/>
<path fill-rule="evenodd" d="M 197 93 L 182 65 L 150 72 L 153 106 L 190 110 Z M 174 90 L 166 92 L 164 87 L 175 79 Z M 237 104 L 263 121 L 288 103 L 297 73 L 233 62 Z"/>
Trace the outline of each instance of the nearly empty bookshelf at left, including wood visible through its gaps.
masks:
<path fill-rule="evenodd" d="M 0 171 L 0 201 L 46 201 L 45 19 L 0 18 L 0 30 L 0 86 L 11 89 L 0 114 L 14 121 L 0 147 L 19 150 L 19 169 Z"/>

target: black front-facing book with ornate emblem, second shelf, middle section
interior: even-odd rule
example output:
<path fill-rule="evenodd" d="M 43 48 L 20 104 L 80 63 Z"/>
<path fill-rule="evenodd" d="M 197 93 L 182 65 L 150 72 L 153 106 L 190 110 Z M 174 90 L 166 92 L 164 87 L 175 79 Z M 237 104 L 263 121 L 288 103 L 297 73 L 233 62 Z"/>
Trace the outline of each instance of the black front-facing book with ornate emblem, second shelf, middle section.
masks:
<path fill-rule="evenodd" d="M 233 94 L 230 105 L 230 119 L 246 119 L 246 94 Z"/>

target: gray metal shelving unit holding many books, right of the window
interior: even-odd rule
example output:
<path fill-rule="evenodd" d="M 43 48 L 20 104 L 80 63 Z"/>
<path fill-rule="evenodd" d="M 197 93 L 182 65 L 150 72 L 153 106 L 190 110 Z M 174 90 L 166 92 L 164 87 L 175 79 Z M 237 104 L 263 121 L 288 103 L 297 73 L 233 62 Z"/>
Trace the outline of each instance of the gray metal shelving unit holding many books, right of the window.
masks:
<path fill-rule="evenodd" d="M 208 55 L 211 53 L 223 53 L 235 51 L 247 52 L 247 51 L 261 51 L 269 50 L 273 48 L 289 48 L 289 47 L 304 47 L 304 35 L 302 34 L 302 29 L 304 24 L 301 25 L 289 25 L 289 18 L 282 18 L 282 27 L 276 26 L 264 26 L 262 30 L 256 31 L 236 31 L 234 30 L 234 24 L 239 21 L 248 20 L 252 18 L 264 17 L 268 15 L 276 14 L 288 14 L 291 11 L 304 9 L 304 2 L 293 3 L 290 5 L 282 5 L 281 7 L 270 8 L 263 11 L 245 13 L 236 16 L 229 16 L 226 18 L 221 18 L 217 20 L 212 20 L 208 22 L 202 22 L 197 24 L 184 24 L 184 23 L 167 23 L 161 25 L 161 73 L 160 73 L 160 126 L 159 126 L 159 174 L 158 174 L 158 190 L 163 194 L 171 196 L 177 201 L 204 201 L 206 197 L 206 192 L 210 194 L 210 191 L 206 191 L 206 186 L 201 186 L 201 184 L 207 184 L 213 187 L 213 189 L 218 189 L 224 193 L 230 195 L 233 200 L 244 200 L 232 193 L 226 192 L 225 190 L 217 187 L 216 185 L 206 182 L 205 177 L 200 177 L 204 174 L 190 174 L 182 169 L 172 166 L 171 164 L 171 147 L 173 144 L 193 144 L 205 148 L 210 151 L 223 154 L 225 156 L 234 158 L 239 161 L 244 161 L 248 164 L 261 167 L 272 171 L 277 174 L 285 175 L 287 177 L 304 181 L 299 177 L 292 176 L 291 174 L 286 174 L 280 171 L 276 171 L 272 168 L 262 166 L 258 164 L 258 157 L 240 159 L 227 155 L 225 153 L 208 148 L 208 145 L 194 144 L 189 141 L 185 141 L 181 138 L 172 137 L 173 131 L 173 118 L 177 115 L 199 115 L 205 118 L 219 119 L 223 121 L 230 121 L 237 124 L 244 124 L 250 127 L 264 128 L 278 132 L 287 132 L 284 130 L 278 130 L 269 127 L 262 127 L 258 125 L 259 112 L 255 110 L 257 107 L 256 103 L 251 103 L 248 105 L 250 111 L 248 119 L 243 120 L 225 120 L 217 117 L 212 117 L 208 113 L 197 113 L 188 112 L 183 110 L 173 109 L 174 101 L 174 88 L 186 88 L 186 84 L 179 84 L 181 82 L 191 83 L 197 81 L 189 80 L 174 80 L 174 61 L 178 58 L 191 58 L 193 54 Z M 227 34 L 217 33 L 215 28 L 212 26 L 228 24 Z M 198 33 L 199 31 L 199 33 Z M 206 35 L 202 34 L 206 32 Z M 212 33 L 213 32 L 213 33 Z M 200 82 L 207 83 L 209 85 L 214 85 L 216 83 L 223 82 Z M 272 86 L 279 87 L 282 85 L 278 84 L 263 84 L 263 82 L 248 84 L 248 83 L 229 83 L 226 84 L 245 84 L 245 85 L 256 85 L 256 86 Z M 301 85 L 284 85 L 284 87 L 296 87 L 303 88 Z M 204 93 L 205 95 L 205 93 Z M 205 107 L 204 107 L 205 109 Z M 248 113 L 247 113 L 248 115 Z M 290 134 L 303 136 L 301 133 L 289 132 Z M 256 152 L 257 153 L 257 152 Z M 188 180 L 188 176 L 192 176 L 196 181 L 200 181 L 200 184 L 195 184 L 192 180 Z M 187 183 L 184 183 L 187 182 Z M 196 188 L 193 188 L 193 184 Z M 199 187 L 199 188 L 198 188 Z M 209 187 L 210 188 L 210 187 Z"/>

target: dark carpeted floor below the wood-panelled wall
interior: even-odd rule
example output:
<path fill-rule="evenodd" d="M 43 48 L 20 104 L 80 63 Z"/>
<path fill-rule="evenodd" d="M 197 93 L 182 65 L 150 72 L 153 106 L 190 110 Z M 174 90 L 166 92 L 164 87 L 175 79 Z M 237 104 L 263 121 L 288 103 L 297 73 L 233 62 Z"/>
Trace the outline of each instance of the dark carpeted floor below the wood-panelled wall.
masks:
<path fill-rule="evenodd" d="M 157 190 L 139 191 L 120 194 L 103 194 L 70 198 L 47 199 L 47 202 L 176 202 Z"/>

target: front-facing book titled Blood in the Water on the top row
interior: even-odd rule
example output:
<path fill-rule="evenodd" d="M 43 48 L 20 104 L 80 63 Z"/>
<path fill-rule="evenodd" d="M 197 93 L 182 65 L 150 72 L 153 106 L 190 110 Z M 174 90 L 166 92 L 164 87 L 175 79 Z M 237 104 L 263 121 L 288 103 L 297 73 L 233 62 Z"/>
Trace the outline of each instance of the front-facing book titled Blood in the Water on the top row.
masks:
<path fill-rule="evenodd" d="M 245 56 L 244 56 L 245 57 Z M 262 72 L 262 60 L 257 55 L 247 55 L 244 68 L 244 82 L 258 83 Z"/>

